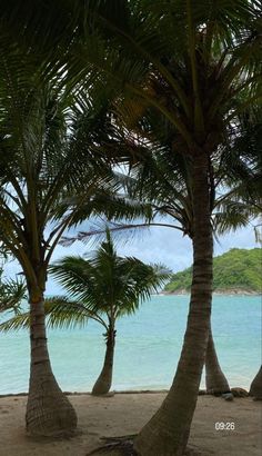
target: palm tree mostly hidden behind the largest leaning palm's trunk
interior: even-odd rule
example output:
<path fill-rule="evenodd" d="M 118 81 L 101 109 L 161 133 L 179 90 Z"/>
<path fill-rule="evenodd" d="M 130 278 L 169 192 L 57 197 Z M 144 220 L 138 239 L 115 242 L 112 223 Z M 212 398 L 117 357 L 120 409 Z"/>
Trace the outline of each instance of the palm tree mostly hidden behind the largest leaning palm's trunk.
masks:
<path fill-rule="evenodd" d="M 162 226 L 179 229 L 183 236 L 189 236 L 192 240 L 192 162 L 189 157 L 172 157 L 170 139 L 172 129 L 167 130 L 167 126 L 161 125 L 159 117 L 150 120 L 150 131 L 154 132 L 154 138 L 159 142 L 159 146 L 155 145 L 154 148 L 159 147 L 160 152 L 152 159 L 144 146 L 147 159 L 141 165 L 137 165 L 131 175 L 125 177 L 123 185 L 131 200 L 139 200 L 141 207 L 142 204 L 143 207 L 151 206 L 151 218 L 148 222 L 110 224 L 110 230 L 121 234 L 124 230 L 134 231 L 143 227 Z M 225 145 L 222 159 L 213 163 L 216 195 L 212 201 L 212 226 L 216 237 L 248 225 L 261 214 L 261 127 L 259 117 L 258 120 L 255 118 L 242 119 L 239 136 L 231 145 Z M 165 137 L 163 137 L 163 131 L 165 131 Z M 127 143 L 128 146 L 130 147 Z M 152 148 L 152 142 L 149 147 Z M 138 156 L 138 148 L 139 146 L 134 143 L 133 156 Z M 172 176 L 169 174 L 171 160 L 175 168 Z M 161 216 L 161 219 L 158 219 L 158 216 Z M 164 221 L 163 216 L 169 220 Z M 100 224 L 93 230 L 81 231 L 80 236 L 74 239 L 99 238 L 103 232 L 104 227 Z M 210 394 L 219 395 L 230 391 L 229 383 L 218 360 L 211 328 L 205 355 L 205 384 L 206 391 Z"/>

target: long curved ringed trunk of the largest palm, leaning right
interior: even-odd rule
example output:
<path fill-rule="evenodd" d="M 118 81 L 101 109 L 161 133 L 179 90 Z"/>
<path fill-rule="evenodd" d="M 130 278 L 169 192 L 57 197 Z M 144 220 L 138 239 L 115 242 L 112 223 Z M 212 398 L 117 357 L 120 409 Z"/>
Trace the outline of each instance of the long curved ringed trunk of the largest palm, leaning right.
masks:
<path fill-rule="evenodd" d="M 193 278 L 188 326 L 171 389 L 134 442 L 141 456 L 183 455 L 208 346 L 213 259 L 209 158 L 202 153 L 193 160 Z"/>

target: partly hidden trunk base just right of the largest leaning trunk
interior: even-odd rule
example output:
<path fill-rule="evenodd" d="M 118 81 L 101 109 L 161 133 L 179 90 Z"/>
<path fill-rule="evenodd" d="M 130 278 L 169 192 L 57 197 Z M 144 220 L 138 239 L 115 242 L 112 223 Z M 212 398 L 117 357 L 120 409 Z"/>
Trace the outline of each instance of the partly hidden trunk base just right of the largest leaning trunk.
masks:
<path fill-rule="evenodd" d="M 205 355 L 205 387 L 208 394 L 214 394 L 215 396 L 223 393 L 230 393 L 230 386 L 220 367 L 216 356 L 211 325 Z"/>

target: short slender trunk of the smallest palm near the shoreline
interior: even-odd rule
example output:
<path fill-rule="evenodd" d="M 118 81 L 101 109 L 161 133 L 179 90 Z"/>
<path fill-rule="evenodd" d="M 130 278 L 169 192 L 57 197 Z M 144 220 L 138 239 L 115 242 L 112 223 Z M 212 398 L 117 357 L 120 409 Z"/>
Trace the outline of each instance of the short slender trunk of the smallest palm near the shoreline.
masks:
<path fill-rule="evenodd" d="M 115 333 L 113 325 L 109 327 L 103 367 L 92 389 L 95 396 L 107 394 L 112 385 Z"/>

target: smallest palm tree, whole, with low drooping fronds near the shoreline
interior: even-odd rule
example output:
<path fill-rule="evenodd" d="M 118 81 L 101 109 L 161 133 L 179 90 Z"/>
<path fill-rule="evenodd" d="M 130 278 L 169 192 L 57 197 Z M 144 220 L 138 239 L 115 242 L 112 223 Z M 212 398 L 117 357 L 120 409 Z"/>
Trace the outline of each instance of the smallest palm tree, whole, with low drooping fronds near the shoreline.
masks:
<path fill-rule="evenodd" d="M 119 257 L 108 230 L 107 240 L 89 259 L 64 257 L 51 265 L 50 271 L 68 295 L 46 300 L 48 325 L 82 326 L 91 318 L 105 330 L 104 363 L 92 394 L 107 394 L 112 384 L 117 320 L 134 313 L 151 291 L 158 291 L 171 277 L 171 272 L 161 265 L 151 266 L 133 257 Z M 28 324 L 29 314 L 20 314 L 3 323 L 1 329 L 18 329 Z"/>

